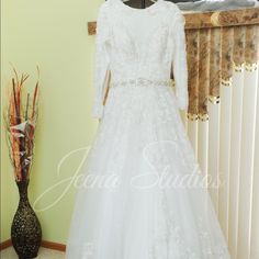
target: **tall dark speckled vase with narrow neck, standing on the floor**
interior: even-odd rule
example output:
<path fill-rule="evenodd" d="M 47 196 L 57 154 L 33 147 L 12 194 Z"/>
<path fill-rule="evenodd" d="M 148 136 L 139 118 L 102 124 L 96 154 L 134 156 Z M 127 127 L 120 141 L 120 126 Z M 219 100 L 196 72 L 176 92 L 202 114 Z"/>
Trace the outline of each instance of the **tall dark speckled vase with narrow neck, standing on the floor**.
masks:
<path fill-rule="evenodd" d="M 11 239 L 19 259 L 37 257 L 42 243 L 42 227 L 27 199 L 26 181 L 15 181 L 19 188 L 20 201 L 12 221 Z"/>

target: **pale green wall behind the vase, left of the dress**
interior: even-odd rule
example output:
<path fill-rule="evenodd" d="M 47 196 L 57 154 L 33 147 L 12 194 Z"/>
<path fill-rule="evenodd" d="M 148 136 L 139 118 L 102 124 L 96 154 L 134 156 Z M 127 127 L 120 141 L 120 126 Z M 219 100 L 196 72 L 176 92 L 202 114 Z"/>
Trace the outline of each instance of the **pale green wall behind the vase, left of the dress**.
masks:
<path fill-rule="evenodd" d="M 94 36 L 87 23 L 95 21 L 103 1 L 3 0 L 1 105 L 7 105 L 12 64 L 30 74 L 29 89 L 41 69 L 40 115 L 29 198 L 43 228 L 43 239 L 66 244 L 76 189 L 68 187 L 98 120 L 91 117 Z M 72 153 L 75 151 L 75 153 Z M 72 153 L 70 156 L 67 156 Z M 65 156 L 67 156 L 66 159 Z M 58 165 L 64 164 L 58 172 Z M 64 180 L 34 202 L 49 188 Z M 10 238 L 18 206 L 18 189 L 9 160 L 1 114 L 1 239 Z M 52 204 L 54 203 L 54 204 Z"/>

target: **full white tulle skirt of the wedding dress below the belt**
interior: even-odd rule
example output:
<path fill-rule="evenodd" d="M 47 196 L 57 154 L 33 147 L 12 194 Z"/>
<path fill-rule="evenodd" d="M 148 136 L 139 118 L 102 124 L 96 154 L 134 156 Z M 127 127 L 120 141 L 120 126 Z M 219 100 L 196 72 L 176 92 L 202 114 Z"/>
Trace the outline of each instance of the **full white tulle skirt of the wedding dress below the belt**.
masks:
<path fill-rule="evenodd" d="M 81 170 L 92 185 L 78 190 L 66 258 L 229 258 L 206 190 L 168 184 L 192 173 L 201 183 L 172 89 L 110 89 Z"/>

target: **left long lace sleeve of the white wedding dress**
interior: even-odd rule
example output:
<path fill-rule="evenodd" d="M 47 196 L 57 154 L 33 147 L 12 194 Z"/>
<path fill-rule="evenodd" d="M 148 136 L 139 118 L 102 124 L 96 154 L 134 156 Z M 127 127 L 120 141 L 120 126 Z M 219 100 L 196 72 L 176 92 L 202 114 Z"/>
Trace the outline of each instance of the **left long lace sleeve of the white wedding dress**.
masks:
<path fill-rule="evenodd" d="M 95 66 L 94 66 L 94 97 L 92 104 L 92 116 L 101 119 L 104 110 L 104 94 L 108 88 L 109 75 L 109 24 L 106 21 L 104 4 L 99 8 L 97 18 L 97 34 L 95 34 Z"/>

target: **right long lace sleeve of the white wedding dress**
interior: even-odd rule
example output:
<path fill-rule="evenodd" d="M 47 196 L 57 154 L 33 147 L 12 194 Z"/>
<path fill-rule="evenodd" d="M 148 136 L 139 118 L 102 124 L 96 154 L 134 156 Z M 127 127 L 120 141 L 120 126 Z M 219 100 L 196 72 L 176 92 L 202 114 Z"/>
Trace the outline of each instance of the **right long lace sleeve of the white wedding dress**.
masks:
<path fill-rule="evenodd" d="M 176 82 L 177 105 L 181 110 L 188 110 L 188 65 L 185 48 L 184 16 L 180 10 L 174 13 L 172 25 L 172 70 Z"/>

